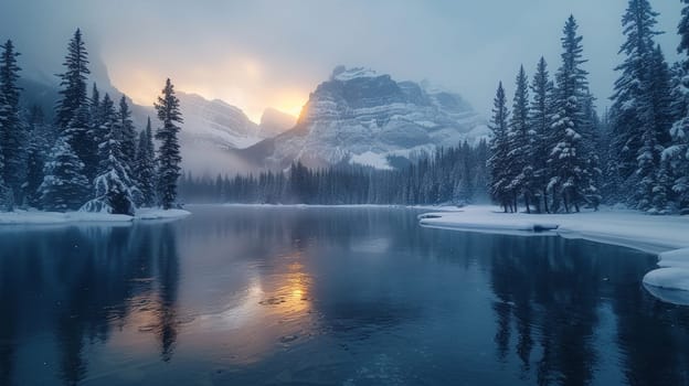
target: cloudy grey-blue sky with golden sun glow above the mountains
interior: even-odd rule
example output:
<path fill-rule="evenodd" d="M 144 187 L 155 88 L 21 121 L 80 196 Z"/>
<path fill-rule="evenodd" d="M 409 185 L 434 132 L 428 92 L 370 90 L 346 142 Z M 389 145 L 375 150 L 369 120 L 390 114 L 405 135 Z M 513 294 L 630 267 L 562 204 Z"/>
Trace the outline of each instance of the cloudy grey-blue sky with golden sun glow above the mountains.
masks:
<path fill-rule="evenodd" d="M 332 68 L 371 67 L 427 79 L 489 116 L 499 81 L 512 93 L 521 64 L 544 56 L 554 74 L 570 14 L 584 36 L 585 67 L 603 109 L 621 63 L 627 0 L 2 0 L 0 39 L 22 52 L 24 76 L 61 71 L 74 30 L 113 84 L 151 105 L 166 77 L 177 88 L 242 108 L 298 115 Z M 679 0 L 651 0 L 657 37 L 677 60 Z"/>

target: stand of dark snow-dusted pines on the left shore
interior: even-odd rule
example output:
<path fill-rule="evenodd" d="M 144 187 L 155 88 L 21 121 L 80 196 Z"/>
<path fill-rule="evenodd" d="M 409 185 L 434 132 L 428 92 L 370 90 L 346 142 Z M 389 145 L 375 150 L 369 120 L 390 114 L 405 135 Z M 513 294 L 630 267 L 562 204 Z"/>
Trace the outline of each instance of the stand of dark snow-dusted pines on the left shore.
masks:
<path fill-rule="evenodd" d="M 182 116 L 170 79 L 155 104 L 160 127 L 153 133 L 149 118 L 137 130 L 124 95 L 100 97 L 95 84 L 87 95 L 88 53 L 77 29 L 59 75 L 55 119 L 47 122 L 39 107 L 20 106 L 20 54 L 11 40 L 0 47 L 2 207 L 132 215 L 139 206 L 176 205 Z"/>

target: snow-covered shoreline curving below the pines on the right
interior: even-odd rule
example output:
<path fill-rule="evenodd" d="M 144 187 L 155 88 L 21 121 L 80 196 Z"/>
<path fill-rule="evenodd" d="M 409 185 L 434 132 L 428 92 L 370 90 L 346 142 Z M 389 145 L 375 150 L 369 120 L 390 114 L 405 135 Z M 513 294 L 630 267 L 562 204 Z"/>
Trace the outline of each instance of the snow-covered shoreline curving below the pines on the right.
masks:
<path fill-rule="evenodd" d="M 659 269 L 644 277 L 657 298 L 689 304 L 689 216 L 650 216 L 635 211 L 576 214 L 505 214 L 495 206 L 469 206 L 460 212 L 425 213 L 422 226 L 516 235 L 559 235 L 584 238 L 658 254 Z"/>

